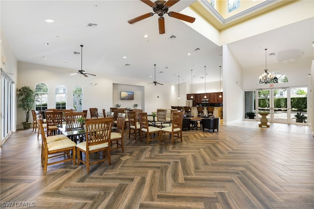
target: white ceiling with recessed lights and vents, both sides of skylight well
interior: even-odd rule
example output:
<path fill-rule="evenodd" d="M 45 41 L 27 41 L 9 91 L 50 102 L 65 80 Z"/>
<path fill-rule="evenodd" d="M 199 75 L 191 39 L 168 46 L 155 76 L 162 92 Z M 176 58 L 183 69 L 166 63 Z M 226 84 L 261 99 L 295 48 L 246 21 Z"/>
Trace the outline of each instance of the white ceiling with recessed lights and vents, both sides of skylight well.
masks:
<path fill-rule="evenodd" d="M 180 12 L 194 1 L 181 0 L 169 10 Z M 162 35 L 158 33 L 157 14 L 130 25 L 128 20 L 152 12 L 139 0 L 1 0 L 0 3 L 1 30 L 18 61 L 78 71 L 81 56 L 73 52 L 80 52 L 82 44 L 83 70 L 98 76 L 109 74 L 153 81 L 156 64 L 156 80 L 160 83 L 176 83 L 178 76 L 180 82 L 190 80 L 191 69 L 195 76 L 193 83 L 204 82 L 200 79 L 204 77 L 204 66 L 207 66 L 207 82 L 219 80 L 222 47 L 168 15 L 164 16 Z M 48 24 L 46 19 L 54 23 Z M 87 27 L 90 23 L 98 26 Z M 267 62 L 313 57 L 313 23 L 312 18 L 228 46 L 244 68 L 263 65 L 264 48 L 269 49 L 268 53 L 276 53 L 276 58 Z M 149 36 L 147 39 L 143 37 L 145 34 Z M 170 40 L 172 35 L 177 38 Z M 195 52 L 196 48 L 200 50 Z"/>

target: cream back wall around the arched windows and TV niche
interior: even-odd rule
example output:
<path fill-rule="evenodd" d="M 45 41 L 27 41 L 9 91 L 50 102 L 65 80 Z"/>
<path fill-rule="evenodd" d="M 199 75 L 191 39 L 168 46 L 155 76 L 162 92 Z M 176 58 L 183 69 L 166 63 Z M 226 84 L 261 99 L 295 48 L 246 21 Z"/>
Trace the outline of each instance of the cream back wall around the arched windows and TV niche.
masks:
<path fill-rule="evenodd" d="M 154 84 L 148 84 L 150 83 L 148 80 L 130 79 L 101 74 L 97 74 L 96 77 L 90 76 L 87 78 L 81 75 L 69 76 L 69 71 L 73 70 L 18 62 L 19 77 L 17 88 L 24 85 L 35 88 L 37 83 L 46 83 L 49 88 L 48 108 L 55 108 L 54 92 L 55 87 L 58 84 L 65 85 L 67 87 L 67 108 L 73 108 L 73 87 L 79 85 L 83 88 L 83 109 L 97 107 L 100 112 L 103 108 L 109 110 L 110 107 L 113 107 L 118 103 L 113 101 L 113 83 L 144 86 L 145 106 L 142 106 L 142 108 L 148 113 L 156 111 L 157 108 L 170 108 L 171 105 L 178 103 L 178 95 L 176 93 L 178 92 L 176 89 L 177 86 L 172 87 L 172 84 L 169 83 L 155 86 Z M 97 83 L 97 85 L 93 86 L 90 85 L 90 83 Z M 120 97 L 120 92 L 118 94 Z M 21 109 L 18 109 L 16 123 L 18 128 L 22 128 L 21 122 L 23 122 L 24 119 L 25 113 Z"/>

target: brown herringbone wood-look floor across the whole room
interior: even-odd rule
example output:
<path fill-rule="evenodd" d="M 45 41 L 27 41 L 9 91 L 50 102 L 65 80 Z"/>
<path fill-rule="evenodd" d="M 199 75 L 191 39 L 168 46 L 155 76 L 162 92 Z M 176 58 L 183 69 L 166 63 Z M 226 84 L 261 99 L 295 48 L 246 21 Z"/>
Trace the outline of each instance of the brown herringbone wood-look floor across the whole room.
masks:
<path fill-rule="evenodd" d="M 125 153 L 91 166 L 71 162 L 43 174 L 41 139 L 13 133 L 2 146 L 1 207 L 106 209 L 313 209 L 314 137 L 309 134 L 220 126 L 183 131 L 183 142 L 128 138 Z M 99 155 L 95 156 L 98 157 Z M 120 157 L 130 156 L 122 160 Z"/>

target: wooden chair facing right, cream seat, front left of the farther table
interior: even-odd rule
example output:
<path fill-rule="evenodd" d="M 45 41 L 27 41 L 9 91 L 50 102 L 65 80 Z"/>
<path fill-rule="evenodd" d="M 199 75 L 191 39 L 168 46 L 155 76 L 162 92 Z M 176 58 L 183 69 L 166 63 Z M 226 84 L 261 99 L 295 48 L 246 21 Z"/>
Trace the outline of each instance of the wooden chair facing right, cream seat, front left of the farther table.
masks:
<path fill-rule="evenodd" d="M 145 135 L 146 144 L 149 141 L 161 139 L 161 129 L 148 125 L 147 112 L 138 112 L 139 124 L 140 124 L 140 141 L 142 141 L 142 136 Z M 158 133 L 158 138 L 153 138 L 153 134 Z"/>

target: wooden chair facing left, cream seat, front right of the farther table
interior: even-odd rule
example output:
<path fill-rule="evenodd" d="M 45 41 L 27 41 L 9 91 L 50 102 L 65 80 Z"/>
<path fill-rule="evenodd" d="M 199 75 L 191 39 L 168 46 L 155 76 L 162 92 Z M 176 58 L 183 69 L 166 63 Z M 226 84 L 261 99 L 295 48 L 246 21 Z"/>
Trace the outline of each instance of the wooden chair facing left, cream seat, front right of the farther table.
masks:
<path fill-rule="evenodd" d="M 174 145 L 175 139 L 181 139 L 182 142 L 182 123 L 183 123 L 183 112 L 174 112 L 172 114 L 172 124 L 170 127 L 164 127 L 161 129 L 163 133 L 169 133 L 171 135 L 171 142 Z M 176 135 L 177 134 L 177 135 Z M 164 139 L 165 137 L 162 137 Z"/>

